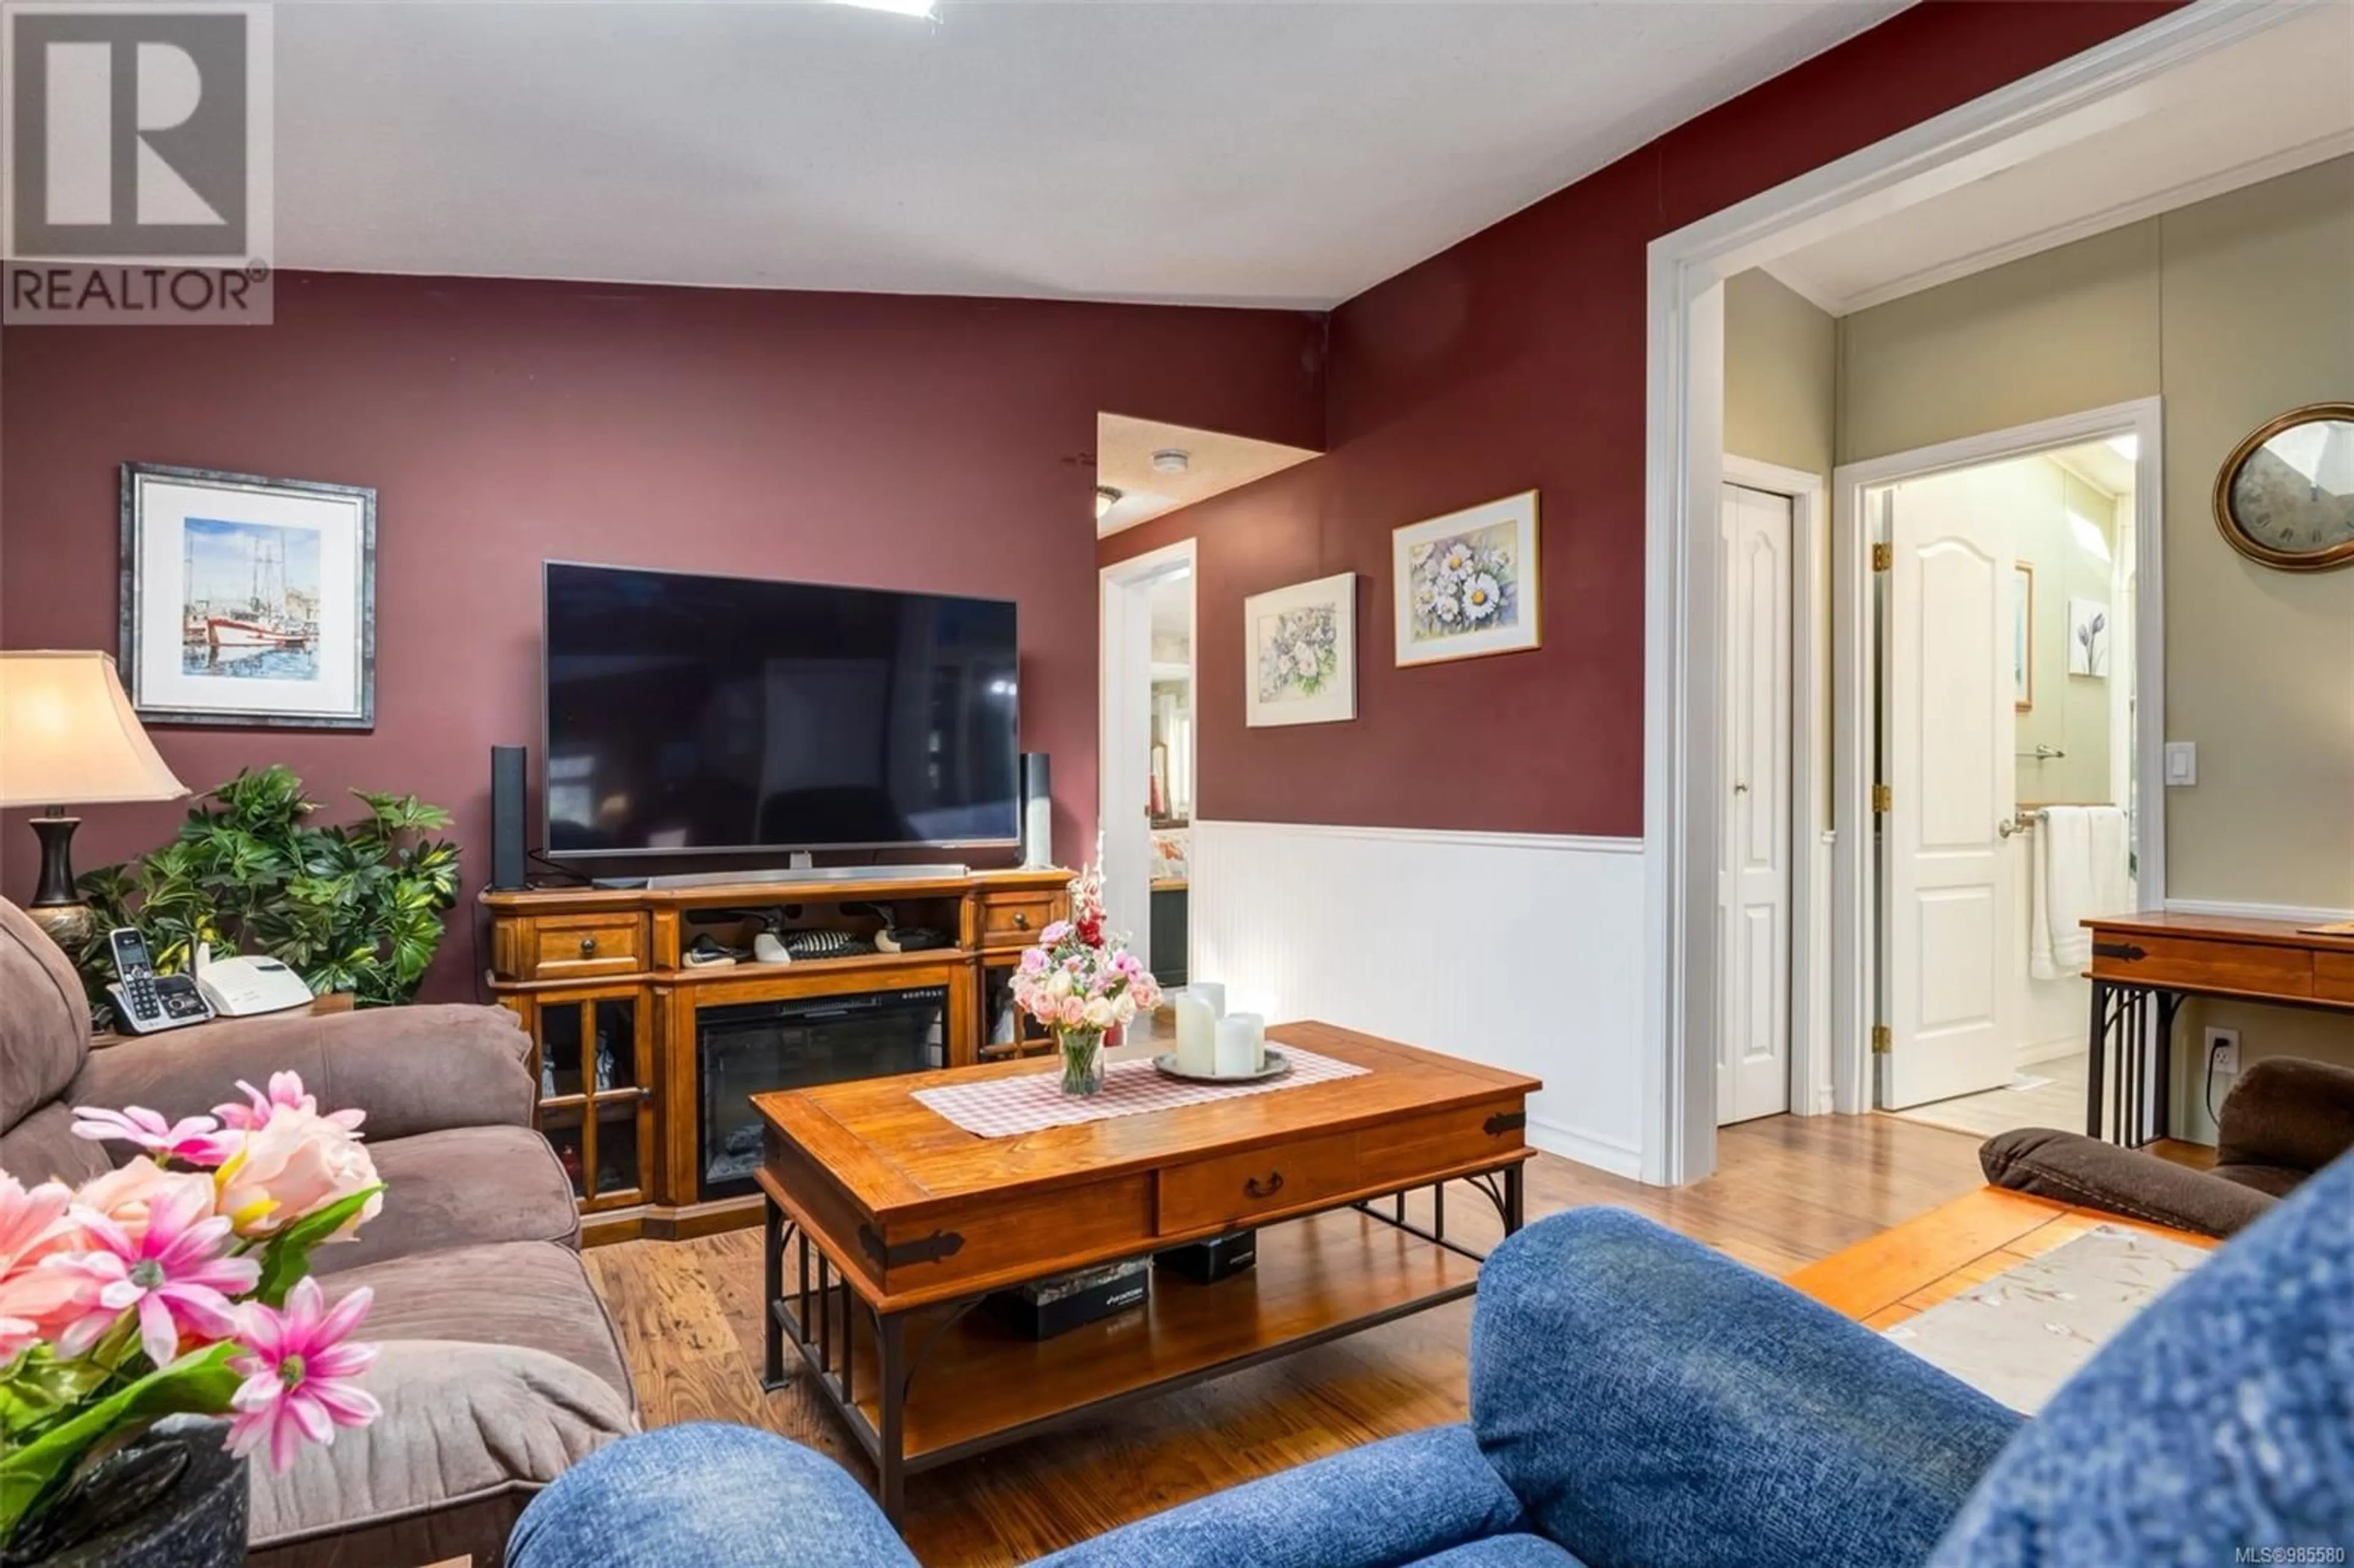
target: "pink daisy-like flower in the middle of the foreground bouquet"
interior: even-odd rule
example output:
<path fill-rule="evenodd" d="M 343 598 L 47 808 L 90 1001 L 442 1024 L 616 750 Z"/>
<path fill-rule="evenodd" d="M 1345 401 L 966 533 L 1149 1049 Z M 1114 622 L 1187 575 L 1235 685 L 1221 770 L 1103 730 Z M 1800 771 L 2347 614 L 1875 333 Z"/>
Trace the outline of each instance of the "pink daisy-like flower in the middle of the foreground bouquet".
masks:
<path fill-rule="evenodd" d="M 210 1212 L 205 1194 L 188 1184 L 155 1191 L 144 1236 L 92 1208 L 78 1208 L 75 1222 L 89 1234 L 89 1253 L 66 1253 L 42 1262 L 42 1269 L 80 1274 L 99 1281 L 99 1302 L 59 1340 L 59 1351 L 80 1356 L 97 1344 L 125 1311 L 139 1314 L 139 1347 L 155 1366 L 179 1354 L 186 1330 L 198 1340 L 226 1340 L 238 1321 L 231 1295 L 245 1295 L 261 1281 L 254 1257 L 224 1257 L 233 1243 L 228 1217 Z"/>

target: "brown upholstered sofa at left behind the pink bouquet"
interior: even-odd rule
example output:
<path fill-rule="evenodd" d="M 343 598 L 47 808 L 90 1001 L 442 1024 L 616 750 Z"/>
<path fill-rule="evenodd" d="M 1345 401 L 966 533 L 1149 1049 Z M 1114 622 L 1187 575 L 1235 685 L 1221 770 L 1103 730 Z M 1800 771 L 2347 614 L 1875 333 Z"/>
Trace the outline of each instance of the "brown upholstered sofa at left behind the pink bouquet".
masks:
<path fill-rule="evenodd" d="M 544 1483 L 636 1429 L 629 1363 L 577 1253 L 572 1184 L 532 1130 L 530 1041 L 504 1008 L 254 1017 L 89 1048 L 73 965 L 0 902 L 0 1170 L 82 1182 L 122 1144 L 73 1137 L 73 1107 L 193 1116 L 238 1078 L 299 1071 L 367 1111 L 384 1212 L 311 1255 L 330 1297 L 372 1285 L 384 1417 L 252 1469 L 252 1563 L 501 1561 Z"/>

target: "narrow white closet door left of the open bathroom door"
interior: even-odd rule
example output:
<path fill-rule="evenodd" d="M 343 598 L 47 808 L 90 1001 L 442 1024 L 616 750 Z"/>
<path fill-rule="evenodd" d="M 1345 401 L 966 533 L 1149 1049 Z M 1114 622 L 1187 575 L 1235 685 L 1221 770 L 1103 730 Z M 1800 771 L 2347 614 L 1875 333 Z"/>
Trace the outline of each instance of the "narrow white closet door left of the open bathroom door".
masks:
<path fill-rule="evenodd" d="M 1723 492 L 1725 822 L 1716 1121 L 1789 1109 L 1791 501 Z"/>

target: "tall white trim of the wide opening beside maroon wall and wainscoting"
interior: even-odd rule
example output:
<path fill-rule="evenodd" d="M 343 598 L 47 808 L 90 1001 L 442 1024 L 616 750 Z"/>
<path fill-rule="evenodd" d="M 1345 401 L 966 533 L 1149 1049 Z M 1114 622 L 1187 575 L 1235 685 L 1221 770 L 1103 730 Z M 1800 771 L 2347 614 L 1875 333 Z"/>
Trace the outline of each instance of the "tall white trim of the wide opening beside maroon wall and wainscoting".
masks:
<path fill-rule="evenodd" d="M 1716 1168 L 1716 494 L 1723 280 L 2130 113 L 2142 82 L 2300 16 L 2196 0 L 1650 242 L 1643 417 L 1643 1180 Z M 2156 603 L 2142 586 L 2140 607 Z"/>

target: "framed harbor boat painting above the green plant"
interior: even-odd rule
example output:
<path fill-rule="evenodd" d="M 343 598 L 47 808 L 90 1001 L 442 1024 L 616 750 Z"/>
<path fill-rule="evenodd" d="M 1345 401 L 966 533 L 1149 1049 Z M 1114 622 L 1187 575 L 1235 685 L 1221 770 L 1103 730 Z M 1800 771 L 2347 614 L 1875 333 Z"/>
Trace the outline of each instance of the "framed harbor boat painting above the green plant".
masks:
<path fill-rule="evenodd" d="M 377 492 L 122 464 L 120 664 L 151 725 L 372 730 Z"/>

